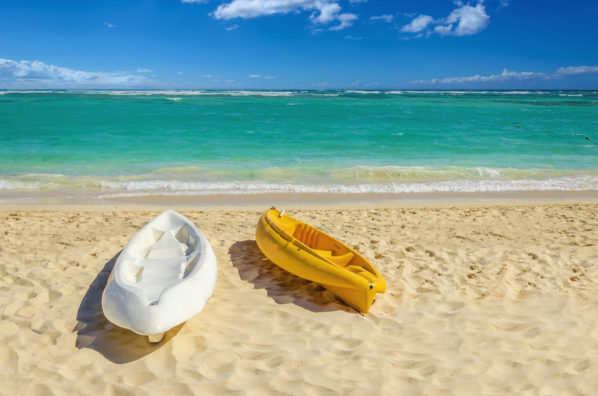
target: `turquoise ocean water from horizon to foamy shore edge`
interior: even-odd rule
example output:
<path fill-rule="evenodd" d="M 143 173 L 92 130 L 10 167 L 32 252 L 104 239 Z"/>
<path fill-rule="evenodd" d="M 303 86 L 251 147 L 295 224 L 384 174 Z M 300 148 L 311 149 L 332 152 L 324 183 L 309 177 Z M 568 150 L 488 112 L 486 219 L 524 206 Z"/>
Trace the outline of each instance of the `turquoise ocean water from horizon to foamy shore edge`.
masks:
<path fill-rule="evenodd" d="M 598 190 L 593 141 L 598 91 L 0 90 L 0 199 Z"/>

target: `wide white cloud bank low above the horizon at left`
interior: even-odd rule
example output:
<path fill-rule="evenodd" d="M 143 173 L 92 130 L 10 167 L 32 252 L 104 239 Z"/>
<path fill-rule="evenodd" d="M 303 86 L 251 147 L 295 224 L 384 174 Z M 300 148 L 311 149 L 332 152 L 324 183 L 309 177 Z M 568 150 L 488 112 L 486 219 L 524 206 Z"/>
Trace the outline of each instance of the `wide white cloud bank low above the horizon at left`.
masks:
<path fill-rule="evenodd" d="M 125 72 L 86 72 L 46 65 L 35 60 L 16 62 L 0 59 L 0 87 L 14 88 L 130 88 L 157 86 L 161 83 L 140 75 Z"/>

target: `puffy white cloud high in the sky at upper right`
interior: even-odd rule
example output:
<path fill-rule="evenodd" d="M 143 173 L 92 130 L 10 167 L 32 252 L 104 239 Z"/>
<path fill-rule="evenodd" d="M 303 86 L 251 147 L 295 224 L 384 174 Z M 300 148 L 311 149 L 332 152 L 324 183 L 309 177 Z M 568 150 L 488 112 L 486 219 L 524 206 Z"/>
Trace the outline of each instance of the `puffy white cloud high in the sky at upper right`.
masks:
<path fill-rule="evenodd" d="M 501 0 L 502 1 L 502 0 Z M 432 32 L 442 36 L 470 36 L 477 34 L 488 26 L 490 16 L 486 14 L 484 0 L 478 0 L 475 6 L 463 4 L 460 0 L 454 2 L 458 8 L 455 8 L 448 17 L 434 20 L 431 16 L 420 15 L 415 17 L 408 25 L 401 28 L 404 33 L 418 33 L 428 28 L 429 25 L 437 25 Z M 502 2 L 501 2 L 502 4 Z"/>

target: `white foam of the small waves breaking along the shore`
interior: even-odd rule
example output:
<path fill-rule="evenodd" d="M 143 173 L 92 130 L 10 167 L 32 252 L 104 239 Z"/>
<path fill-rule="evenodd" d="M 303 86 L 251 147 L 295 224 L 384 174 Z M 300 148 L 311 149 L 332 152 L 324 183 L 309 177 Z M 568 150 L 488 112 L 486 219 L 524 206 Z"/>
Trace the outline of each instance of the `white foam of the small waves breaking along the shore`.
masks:
<path fill-rule="evenodd" d="M 420 171 L 429 172 L 426 167 Z M 396 175 L 396 169 L 386 169 L 388 176 Z M 417 172 L 418 169 L 404 170 Z M 533 170 L 530 170 L 533 176 Z M 346 169 L 353 173 L 352 179 L 359 180 L 368 173 L 381 172 L 377 167 L 355 167 Z M 423 182 L 297 182 L 297 181 L 177 181 L 167 179 L 110 180 L 101 178 L 68 178 L 67 176 L 46 178 L 45 181 L 22 181 L 0 179 L 0 191 L 22 191 L 20 197 L 28 197 L 25 191 L 52 190 L 69 191 L 69 196 L 123 197 L 147 195 L 205 195 L 205 194 L 257 194 L 257 193 L 431 193 L 480 192 L 480 191 L 579 191 L 598 190 L 598 176 L 575 175 L 550 178 L 505 179 L 504 170 L 486 167 L 468 168 L 480 179 L 454 178 L 436 180 L 434 174 Z M 542 173 L 542 170 L 538 170 Z M 29 176 L 29 175 L 28 175 Z M 408 175 L 407 175 L 408 176 Z M 130 176 L 133 177 L 133 176 Z M 454 177 L 454 175 L 453 175 Z M 30 176 L 29 179 L 35 179 Z M 367 179 L 367 177 L 365 177 Z M 401 175 L 399 175 L 401 179 Z M 408 178 L 407 178 L 408 179 Z M 0 197 L 2 193 L 0 193 Z M 14 197 L 14 193 L 12 195 Z"/>

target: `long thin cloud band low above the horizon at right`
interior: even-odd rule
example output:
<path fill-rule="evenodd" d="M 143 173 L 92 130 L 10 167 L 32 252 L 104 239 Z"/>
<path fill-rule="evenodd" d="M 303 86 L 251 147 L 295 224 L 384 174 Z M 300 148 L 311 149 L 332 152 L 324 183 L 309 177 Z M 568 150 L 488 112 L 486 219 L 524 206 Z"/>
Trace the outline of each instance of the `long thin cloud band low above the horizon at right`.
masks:
<path fill-rule="evenodd" d="M 598 66 L 569 66 L 568 68 L 559 68 L 553 72 L 515 72 L 504 69 L 501 74 L 483 76 L 474 75 L 471 77 L 449 77 L 438 80 L 417 80 L 409 81 L 404 85 L 413 84 L 459 84 L 459 83 L 491 83 L 491 82 L 511 82 L 511 81 L 533 81 L 533 80 L 559 80 L 565 77 L 574 77 L 579 75 L 598 74 Z"/>

